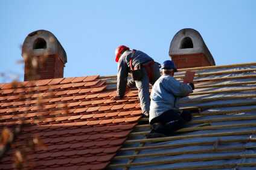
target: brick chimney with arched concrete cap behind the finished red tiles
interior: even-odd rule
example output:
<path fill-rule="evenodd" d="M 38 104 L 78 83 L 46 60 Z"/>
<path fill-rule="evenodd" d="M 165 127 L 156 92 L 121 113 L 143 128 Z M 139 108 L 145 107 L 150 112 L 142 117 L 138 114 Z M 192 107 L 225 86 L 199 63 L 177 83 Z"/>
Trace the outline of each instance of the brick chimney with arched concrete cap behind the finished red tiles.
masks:
<path fill-rule="evenodd" d="M 31 32 L 22 45 L 25 61 L 24 81 L 62 78 L 66 52 L 49 31 Z"/>

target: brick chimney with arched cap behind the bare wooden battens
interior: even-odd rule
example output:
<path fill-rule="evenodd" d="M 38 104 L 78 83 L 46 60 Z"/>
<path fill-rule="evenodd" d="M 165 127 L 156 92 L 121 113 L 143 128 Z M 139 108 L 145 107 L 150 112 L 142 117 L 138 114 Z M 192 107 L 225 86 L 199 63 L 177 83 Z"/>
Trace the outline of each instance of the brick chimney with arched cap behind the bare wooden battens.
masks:
<path fill-rule="evenodd" d="M 181 29 L 171 40 L 169 55 L 176 68 L 215 65 L 202 36 L 194 29 Z"/>

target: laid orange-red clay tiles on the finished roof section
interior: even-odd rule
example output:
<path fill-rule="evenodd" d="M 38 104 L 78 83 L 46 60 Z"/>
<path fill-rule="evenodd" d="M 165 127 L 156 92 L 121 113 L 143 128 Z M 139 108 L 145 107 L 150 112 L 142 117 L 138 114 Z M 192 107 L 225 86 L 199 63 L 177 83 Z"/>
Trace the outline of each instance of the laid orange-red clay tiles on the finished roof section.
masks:
<path fill-rule="evenodd" d="M 22 168 L 104 169 L 142 115 L 136 91 L 109 100 L 116 91 L 103 91 L 105 82 L 85 76 L 0 83 L 0 128 L 25 125 L 0 169 L 13 169 L 25 148 Z M 30 139 L 42 144 L 31 149 Z"/>

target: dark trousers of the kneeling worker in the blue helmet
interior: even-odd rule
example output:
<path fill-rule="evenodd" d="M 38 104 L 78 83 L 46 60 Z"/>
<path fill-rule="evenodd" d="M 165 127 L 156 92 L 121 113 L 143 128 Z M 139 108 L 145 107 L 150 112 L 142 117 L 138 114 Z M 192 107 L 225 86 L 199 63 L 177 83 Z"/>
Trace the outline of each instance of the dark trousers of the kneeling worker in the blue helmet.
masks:
<path fill-rule="evenodd" d="M 190 111 L 183 111 L 181 115 L 173 110 L 168 110 L 151 121 L 152 130 L 150 133 L 161 133 L 170 135 L 175 130 L 185 126 L 185 122 L 192 118 Z"/>

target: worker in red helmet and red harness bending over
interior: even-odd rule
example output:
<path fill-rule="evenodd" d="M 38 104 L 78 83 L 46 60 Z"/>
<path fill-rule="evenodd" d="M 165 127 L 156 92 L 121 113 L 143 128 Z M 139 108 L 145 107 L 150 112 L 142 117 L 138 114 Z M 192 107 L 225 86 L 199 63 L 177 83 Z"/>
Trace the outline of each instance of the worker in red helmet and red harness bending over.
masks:
<path fill-rule="evenodd" d="M 122 99 L 126 91 L 136 85 L 142 113 L 144 117 L 149 117 L 149 83 L 153 85 L 161 76 L 158 63 L 146 53 L 139 50 L 130 50 L 126 46 L 117 47 L 115 56 L 115 61 L 118 62 L 118 96 L 112 97 L 111 100 Z M 129 81 L 127 86 L 128 73 L 132 74 L 133 80 Z"/>

